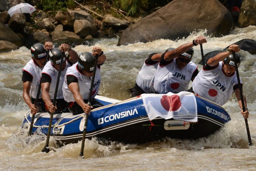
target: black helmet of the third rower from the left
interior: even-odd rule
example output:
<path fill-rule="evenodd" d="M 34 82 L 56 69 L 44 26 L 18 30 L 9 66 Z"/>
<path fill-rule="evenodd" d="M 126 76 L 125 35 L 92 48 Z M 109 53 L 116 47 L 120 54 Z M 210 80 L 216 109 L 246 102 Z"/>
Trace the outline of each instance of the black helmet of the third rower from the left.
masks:
<path fill-rule="evenodd" d="M 94 62 L 95 58 L 89 52 L 83 52 L 79 55 L 78 66 L 88 73 L 91 73 L 94 70 Z"/>

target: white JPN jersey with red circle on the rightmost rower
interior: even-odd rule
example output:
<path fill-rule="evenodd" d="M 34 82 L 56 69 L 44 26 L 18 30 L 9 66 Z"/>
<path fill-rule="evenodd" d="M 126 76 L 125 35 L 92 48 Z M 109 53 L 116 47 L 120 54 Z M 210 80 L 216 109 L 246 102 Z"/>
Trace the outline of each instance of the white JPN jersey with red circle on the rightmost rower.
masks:
<path fill-rule="evenodd" d="M 236 73 L 226 76 L 222 69 L 223 61 L 212 70 L 204 68 L 195 77 L 192 87 L 195 94 L 220 105 L 227 103 L 233 93 L 233 86 L 238 84 Z M 242 83 L 241 79 L 240 82 Z"/>

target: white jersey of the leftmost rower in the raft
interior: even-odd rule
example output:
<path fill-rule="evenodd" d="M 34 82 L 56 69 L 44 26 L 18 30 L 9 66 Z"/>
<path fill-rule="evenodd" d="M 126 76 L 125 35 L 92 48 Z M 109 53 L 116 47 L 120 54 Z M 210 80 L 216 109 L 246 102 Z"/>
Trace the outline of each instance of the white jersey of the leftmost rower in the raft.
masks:
<path fill-rule="evenodd" d="M 27 62 L 26 66 L 22 69 L 22 71 L 27 71 L 32 76 L 32 83 L 29 91 L 29 95 L 32 98 L 36 98 L 40 79 L 41 79 L 41 72 L 42 68 L 35 64 L 33 59 Z M 42 94 L 40 91 L 39 98 L 42 98 Z"/>

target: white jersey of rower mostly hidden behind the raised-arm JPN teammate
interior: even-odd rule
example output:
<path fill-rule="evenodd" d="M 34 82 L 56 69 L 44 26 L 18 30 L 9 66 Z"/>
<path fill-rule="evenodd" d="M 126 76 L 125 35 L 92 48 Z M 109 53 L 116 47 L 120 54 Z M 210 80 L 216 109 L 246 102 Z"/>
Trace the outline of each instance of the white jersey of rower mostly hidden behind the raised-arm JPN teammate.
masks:
<path fill-rule="evenodd" d="M 153 88 L 153 80 L 155 77 L 158 64 L 159 62 L 156 62 L 156 64 L 153 65 L 149 65 L 144 62 L 141 70 L 138 73 L 136 83 L 139 86 L 139 88 L 141 88 L 146 93 L 155 92 Z"/>

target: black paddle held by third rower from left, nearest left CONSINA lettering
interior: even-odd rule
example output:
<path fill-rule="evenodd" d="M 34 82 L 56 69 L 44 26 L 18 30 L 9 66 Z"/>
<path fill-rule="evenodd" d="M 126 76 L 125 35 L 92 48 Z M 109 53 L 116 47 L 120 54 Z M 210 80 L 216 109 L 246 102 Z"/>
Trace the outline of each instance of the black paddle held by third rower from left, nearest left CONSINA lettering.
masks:
<path fill-rule="evenodd" d="M 89 106 L 91 106 L 92 89 L 93 89 L 93 84 L 94 84 L 97 62 L 98 62 L 98 54 L 96 54 L 96 58 L 95 58 L 95 62 L 94 62 L 91 88 L 90 88 L 89 98 L 88 98 L 88 103 L 87 103 Z M 85 125 L 83 127 L 83 139 L 82 139 L 82 145 L 81 145 L 81 150 L 80 150 L 80 154 L 79 154 L 79 156 L 82 157 L 82 158 L 84 158 L 83 157 L 83 149 L 85 148 L 85 135 L 86 135 L 86 130 L 87 130 L 87 123 L 88 123 L 89 114 L 85 113 Z"/>

